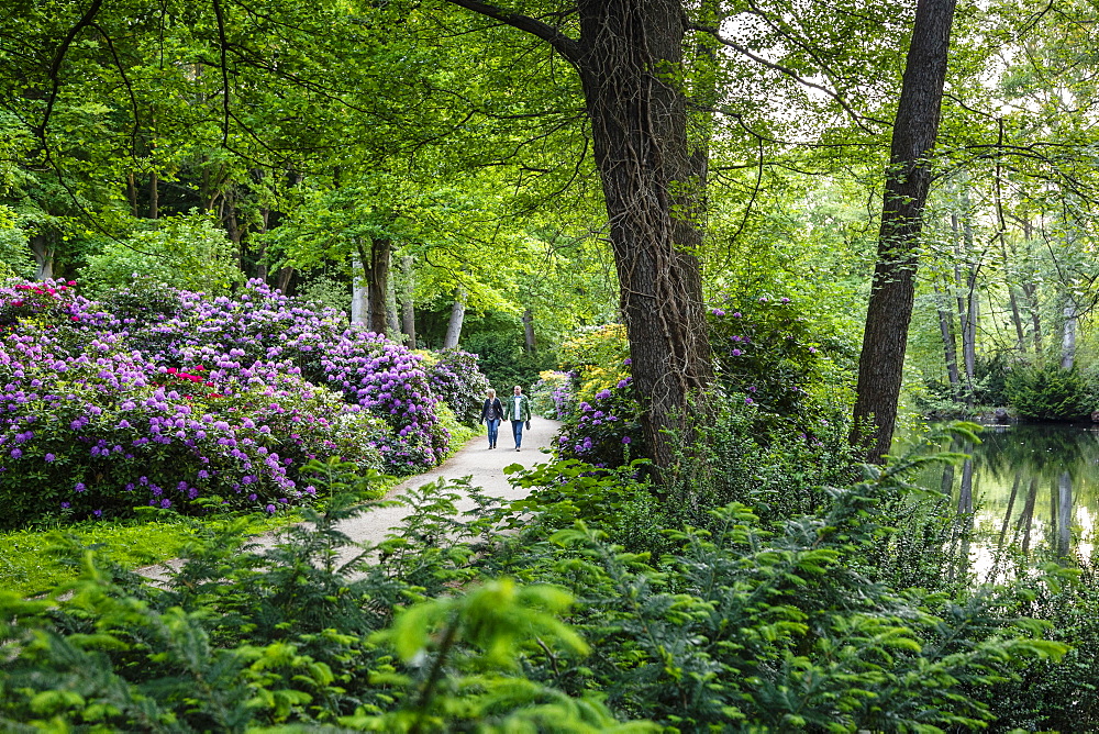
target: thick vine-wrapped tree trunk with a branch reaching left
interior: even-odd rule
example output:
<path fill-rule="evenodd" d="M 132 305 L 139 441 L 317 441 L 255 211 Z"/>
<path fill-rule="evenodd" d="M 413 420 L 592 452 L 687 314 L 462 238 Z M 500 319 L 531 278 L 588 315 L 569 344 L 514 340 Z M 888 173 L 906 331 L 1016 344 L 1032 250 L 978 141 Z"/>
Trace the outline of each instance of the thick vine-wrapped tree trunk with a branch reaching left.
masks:
<path fill-rule="evenodd" d="M 578 40 L 478 0 L 448 0 L 536 35 L 580 75 L 610 221 L 642 426 L 657 470 L 670 434 L 692 440 L 687 401 L 711 379 L 699 260 L 704 165 L 687 137 L 679 0 L 577 0 Z"/>

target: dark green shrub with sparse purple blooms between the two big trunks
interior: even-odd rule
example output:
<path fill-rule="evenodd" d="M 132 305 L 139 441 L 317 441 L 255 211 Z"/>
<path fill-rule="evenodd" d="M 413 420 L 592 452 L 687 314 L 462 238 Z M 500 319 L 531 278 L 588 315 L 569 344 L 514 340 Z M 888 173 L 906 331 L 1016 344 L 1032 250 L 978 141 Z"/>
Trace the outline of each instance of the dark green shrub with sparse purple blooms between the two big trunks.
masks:
<path fill-rule="evenodd" d="M 710 309 L 710 343 L 718 379 L 746 404 L 797 412 L 817 375 L 817 346 L 789 298 L 725 298 Z"/>

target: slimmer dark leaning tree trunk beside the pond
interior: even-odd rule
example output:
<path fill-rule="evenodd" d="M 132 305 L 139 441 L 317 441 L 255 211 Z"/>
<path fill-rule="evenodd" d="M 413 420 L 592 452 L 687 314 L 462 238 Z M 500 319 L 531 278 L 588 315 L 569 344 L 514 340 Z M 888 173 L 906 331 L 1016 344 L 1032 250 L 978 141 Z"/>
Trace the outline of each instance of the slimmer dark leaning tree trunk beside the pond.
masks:
<path fill-rule="evenodd" d="M 878 262 L 858 359 L 852 442 L 881 461 L 892 442 L 915 293 L 917 247 L 931 186 L 955 0 L 919 0 L 881 207 Z"/>

